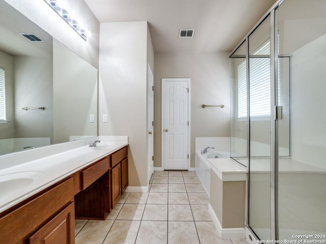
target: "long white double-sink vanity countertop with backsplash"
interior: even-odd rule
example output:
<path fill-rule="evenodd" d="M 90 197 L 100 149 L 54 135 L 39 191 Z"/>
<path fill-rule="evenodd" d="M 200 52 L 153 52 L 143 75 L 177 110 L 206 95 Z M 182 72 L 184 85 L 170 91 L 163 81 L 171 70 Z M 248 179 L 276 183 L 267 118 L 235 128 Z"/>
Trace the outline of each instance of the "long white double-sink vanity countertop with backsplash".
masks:
<path fill-rule="evenodd" d="M 101 142 L 89 147 L 94 140 Z M 128 144 L 127 136 L 100 136 L 0 156 L 0 212 Z"/>

